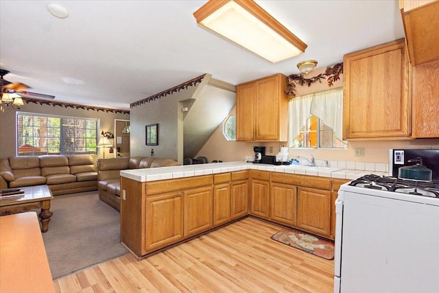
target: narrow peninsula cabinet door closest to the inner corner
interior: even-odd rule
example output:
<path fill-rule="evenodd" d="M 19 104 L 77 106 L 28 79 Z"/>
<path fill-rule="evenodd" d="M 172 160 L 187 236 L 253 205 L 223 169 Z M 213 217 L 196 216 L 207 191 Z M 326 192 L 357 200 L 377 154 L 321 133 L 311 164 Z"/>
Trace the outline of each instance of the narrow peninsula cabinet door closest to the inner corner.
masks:
<path fill-rule="evenodd" d="M 248 214 L 248 180 L 230 183 L 230 220 Z"/>

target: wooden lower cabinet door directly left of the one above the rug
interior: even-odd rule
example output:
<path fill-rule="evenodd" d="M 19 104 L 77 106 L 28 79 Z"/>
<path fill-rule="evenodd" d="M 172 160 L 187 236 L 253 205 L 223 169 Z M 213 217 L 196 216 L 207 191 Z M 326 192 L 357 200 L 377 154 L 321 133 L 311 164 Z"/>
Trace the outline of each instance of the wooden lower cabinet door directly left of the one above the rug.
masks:
<path fill-rule="evenodd" d="M 294 185 L 275 183 L 270 190 L 270 220 L 296 226 L 297 187 Z"/>

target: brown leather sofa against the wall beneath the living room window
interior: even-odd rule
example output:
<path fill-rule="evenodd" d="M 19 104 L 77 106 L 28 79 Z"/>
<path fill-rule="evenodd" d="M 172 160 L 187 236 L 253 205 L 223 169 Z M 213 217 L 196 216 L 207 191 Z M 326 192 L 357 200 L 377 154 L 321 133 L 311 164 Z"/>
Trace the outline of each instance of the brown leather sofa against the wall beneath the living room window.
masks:
<path fill-rule="evenodd" d="M 54 196 L 97 190 L 90 155 L 10 156 L 0 159 L 0 189 L 47 184 Z"/>

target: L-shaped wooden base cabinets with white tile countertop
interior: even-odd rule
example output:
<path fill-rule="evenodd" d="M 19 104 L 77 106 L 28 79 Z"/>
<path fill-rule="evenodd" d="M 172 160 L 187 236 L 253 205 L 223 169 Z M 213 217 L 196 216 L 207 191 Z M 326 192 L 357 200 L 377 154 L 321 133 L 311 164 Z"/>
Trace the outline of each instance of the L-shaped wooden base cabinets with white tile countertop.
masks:
<path fill-rule="evenodd" d="M 369 166 L 372 164 L 369 164 Z M 121 171 L 121 243 L 141 258 L 247 215 L 331 238 L 342 167 L 211 163 Z"/>

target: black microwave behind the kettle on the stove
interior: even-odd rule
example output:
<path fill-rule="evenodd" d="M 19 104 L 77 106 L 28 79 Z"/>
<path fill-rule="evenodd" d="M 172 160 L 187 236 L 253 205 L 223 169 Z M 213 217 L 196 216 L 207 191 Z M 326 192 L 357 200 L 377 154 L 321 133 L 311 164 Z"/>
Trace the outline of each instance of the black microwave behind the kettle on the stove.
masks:
<path fill-rule="evenodd" d="M 413 161 L 418 158 L 425 167 L 431 169 L 431 179 L 439 180 L 439 150 L 432 149 L 389 150 L 389 175 L 398 177 L 400 167 L 414 165 Z"/>

